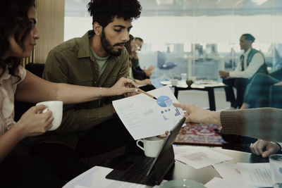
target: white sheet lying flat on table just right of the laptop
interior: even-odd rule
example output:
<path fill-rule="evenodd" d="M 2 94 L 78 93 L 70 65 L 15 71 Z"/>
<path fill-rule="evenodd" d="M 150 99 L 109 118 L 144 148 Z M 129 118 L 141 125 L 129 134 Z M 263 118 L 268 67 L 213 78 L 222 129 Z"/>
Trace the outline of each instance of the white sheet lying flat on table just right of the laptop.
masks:
<path fill-rule="evenodd" d="M 190 148 L 174 147 L 176 151 L 176 160 L 199 169 L 223 161 L 229 161 L 233 159 L 230 156 L 223 155 L 219 152 L 212 151 L 207 148 Z"/>

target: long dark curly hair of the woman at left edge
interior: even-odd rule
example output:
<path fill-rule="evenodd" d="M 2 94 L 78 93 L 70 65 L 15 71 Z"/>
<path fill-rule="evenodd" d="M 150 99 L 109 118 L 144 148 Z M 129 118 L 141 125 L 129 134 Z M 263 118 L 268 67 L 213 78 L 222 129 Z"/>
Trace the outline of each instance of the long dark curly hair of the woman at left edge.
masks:
<path fill-rule="evenodd" d="M 9 65 L 9 73 L 16 77 L 18 76 L 15 75 L 15 70 L 22 59 L 9 57 L 4 60 L 4 55 L 10 47 L 9 37 L 14 37 L 18 45 L 24 49 L 23 41 L 33 28 L 27 17 L 27 12 L 32 6 L 35 6 L 35 0 L 0 1 L 0 68 L 5 71 L 6 65 Z M 0 77 L 4 71 L 0 73 Z"/>

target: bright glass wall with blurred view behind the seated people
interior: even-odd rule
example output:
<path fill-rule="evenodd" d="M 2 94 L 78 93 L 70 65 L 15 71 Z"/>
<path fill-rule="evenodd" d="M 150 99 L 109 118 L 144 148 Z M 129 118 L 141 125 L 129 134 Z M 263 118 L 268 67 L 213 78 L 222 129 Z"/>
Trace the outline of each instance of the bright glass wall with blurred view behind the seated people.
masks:
<path fill-rule="evenodd" d="M 66 0 L 65 40 L 92 28 L 87 0 Z M 140 0 L 142 14 L 131 34 L 144 39 L 140 66 L 155 66 L 154 83 L 180 79 L 220 80 L 219 70 L 233 70 L 242 54 L 240 36 L 252 34 L 269 72 L 282 66 L 282 1 Z"/>

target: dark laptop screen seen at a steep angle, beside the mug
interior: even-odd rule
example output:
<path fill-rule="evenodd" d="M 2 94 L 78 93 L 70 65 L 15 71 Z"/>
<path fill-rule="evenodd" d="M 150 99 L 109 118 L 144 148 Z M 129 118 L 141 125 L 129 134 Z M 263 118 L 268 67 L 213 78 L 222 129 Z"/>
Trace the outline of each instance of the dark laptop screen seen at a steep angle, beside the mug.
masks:
<path fill-rule="evenodd" d="M 149 175 L 149 173 L 152 172 L 152 169 L 154 168 L 154 165 L 156 163 L 158 163 L 158 161 L 160 161 L 160 159 L 162 158 L 162 156 L 164 156 L 164 153 L 166 153 L 166 151 L 168 149 L 171 148 L 173 142 L 175 141 L 178 132 L 180 131 L 183 123 L 185 122 L 185 118 L 182 118 L 172 129 L 170 132 L 168 132 L 168 136 L 166 137 L 166 139 L 164 140 L 164 144 L 161 146 L 161 149 L 159 150 L 159 153 L 157 154 L 156 158 L 154 158 L 154 162 L 152 163 L 151 167 L 149 168 L 148 172 L 147 172 L 147 176 Z"/>

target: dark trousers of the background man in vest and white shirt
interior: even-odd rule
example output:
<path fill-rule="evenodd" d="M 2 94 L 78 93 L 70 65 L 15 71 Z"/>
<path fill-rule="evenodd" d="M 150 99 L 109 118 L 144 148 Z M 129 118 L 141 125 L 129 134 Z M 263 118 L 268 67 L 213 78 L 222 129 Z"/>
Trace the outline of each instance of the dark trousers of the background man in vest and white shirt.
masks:
<path fill-rule="evenodd" d="M 226 84 L 226 87 L 224 87 L 226 93 L 226 101 L 231 102 L 232 107 L 240 108 L 242 106 L 245 89 L 249 82 L 249 79 L 241 77 L 223 79 L 223 83 Z M 236 98 L 234 95 L 233 87 L 236 88 Z"/>

